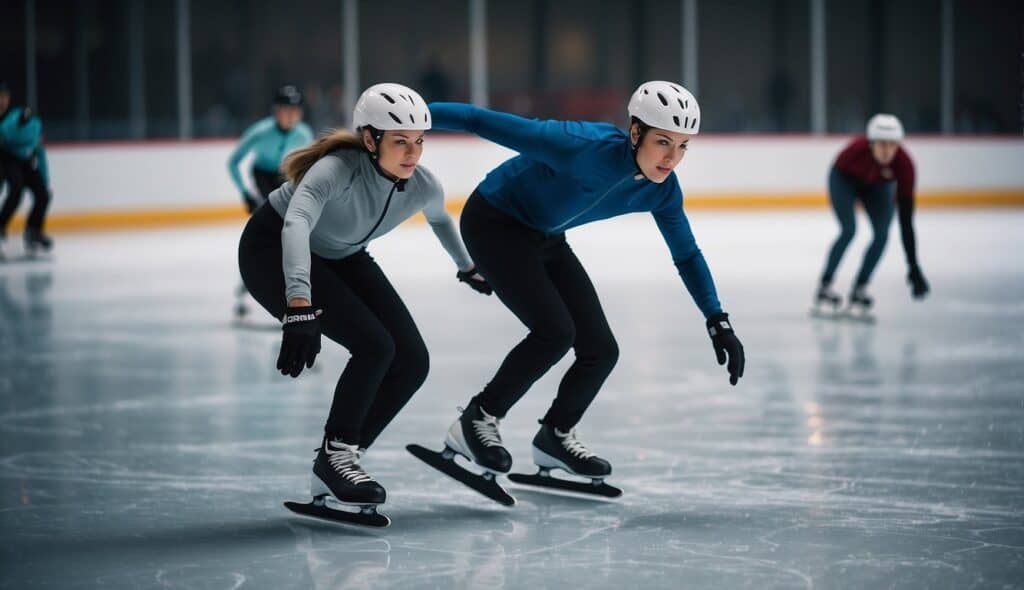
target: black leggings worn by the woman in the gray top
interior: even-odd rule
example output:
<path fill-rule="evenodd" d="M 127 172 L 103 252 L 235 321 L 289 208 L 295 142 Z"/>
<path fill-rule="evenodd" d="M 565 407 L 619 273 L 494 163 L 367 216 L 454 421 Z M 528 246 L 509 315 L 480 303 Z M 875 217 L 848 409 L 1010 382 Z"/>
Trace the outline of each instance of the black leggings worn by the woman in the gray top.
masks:
<path fill-rule="evenodd" d="M 239 268 L 253 297 L 274 318 L 285 313 L 281 228 L 265 204 L 239 244 Z M 366 250 L 340 260 L 313 254 L 312 304 L 321 329 L 351 359 L 338 378 L 325 430 L 348 445 L 370 447 L 427 378 L 429 357 L 409 309 Z"/>

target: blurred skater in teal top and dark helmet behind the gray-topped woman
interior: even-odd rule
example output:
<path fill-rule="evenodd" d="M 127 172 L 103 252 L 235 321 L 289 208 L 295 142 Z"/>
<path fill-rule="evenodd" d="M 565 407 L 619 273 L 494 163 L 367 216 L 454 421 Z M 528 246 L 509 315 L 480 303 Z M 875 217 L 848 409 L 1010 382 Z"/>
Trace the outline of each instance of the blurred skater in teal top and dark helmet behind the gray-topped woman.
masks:
<path fill-rule="evenodd" d="M 282 86 L 273 96 L 273 116 L 260 119 L 246 129 L 227 160 L 231 181 L 250 215 L 266 201 L 271 191 L 287 180 L 281 172 L 285 158 L 312 140 L 312 129 L 302 122 L 302 94 L 295 86 Z M 251 172 L 256 194 L 242 178 L 242 161 L 249 154 L 253 156 Z M 241 320 L 249 313 L 245 285 L 236 290 L 236 298 L 234 315 Z"/>

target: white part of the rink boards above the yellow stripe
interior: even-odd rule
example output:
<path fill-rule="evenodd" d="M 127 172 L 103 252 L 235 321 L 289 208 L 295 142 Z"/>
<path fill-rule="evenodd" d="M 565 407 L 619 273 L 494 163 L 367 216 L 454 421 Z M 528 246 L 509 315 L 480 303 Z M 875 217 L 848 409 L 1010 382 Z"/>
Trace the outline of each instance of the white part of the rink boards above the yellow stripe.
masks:
<path fill-rule="evenodd" d="M 687 195 L 823 193 L 847 136 L 697 136 L 677 173 Z M 1024 191 L 1024 139 L 910 137 L 921 191 Z M 60 144 L 49 150 L 51 211 L 196 209 L 239 203 L 233 141 Z M 512 152 L 470 136 L 433 136 L 423 164 L 450 198 L 472 193 Z M 244 162 L 243 170 L 248 169 Z M 248 172 L 246 173 L 248 175 Z"/>

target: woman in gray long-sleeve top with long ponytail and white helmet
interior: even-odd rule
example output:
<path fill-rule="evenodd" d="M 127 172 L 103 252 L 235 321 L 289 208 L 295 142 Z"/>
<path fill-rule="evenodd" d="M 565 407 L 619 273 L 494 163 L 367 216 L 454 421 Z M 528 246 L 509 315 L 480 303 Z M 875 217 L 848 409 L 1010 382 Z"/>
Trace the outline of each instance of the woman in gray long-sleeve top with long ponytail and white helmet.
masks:
<path fill-rule="evenodd" d="M 428 356 L 409 309 L 366 246 L 422 211 L 473 289 L 474 271 L 440 183 L 418 166 L 430 113 L 397 84 L 369 88 L 355 106 L 358 135 L 340 130 L 294 152 L 289 181 L 272 192 L 242 235 L 246 287 L 275 318 L 284 337 L 278 368 L 297 377 L 312 367 L 321 332 L 351 352 L 334 392 L 313 463 L 313 497 L 380 504 L 384 489 L 359 458 L 427 376 Z"/>

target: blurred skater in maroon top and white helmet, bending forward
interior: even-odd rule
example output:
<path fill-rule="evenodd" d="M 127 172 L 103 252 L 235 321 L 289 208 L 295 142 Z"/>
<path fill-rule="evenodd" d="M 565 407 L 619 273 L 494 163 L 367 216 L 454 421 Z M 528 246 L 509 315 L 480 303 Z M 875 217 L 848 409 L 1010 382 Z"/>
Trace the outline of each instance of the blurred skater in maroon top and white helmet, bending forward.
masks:
<path fill-rule="evenodd" d="M 914 299 L 928 294 L 928 281 L 918 264 L 918 248 L 913 236 L 914 168 L 910 156 L 900 144 L 903 126 L 892 115 L 876 115 L 867 122 L 867 134 L 851 141 L 840 153 L 828 175 L 828 197 L 839 219 L 840 235 L 828 251 L 821 283 L 815 296 L 816 305 L 840 307 L 842 298 L 831 289 L 833 278 L 843 253 L 855 230 L 853 206 L 859 200 L 871 221 L 874 238 L 864 252 L 860 271 L 850 291 L 851 310 L 867 311 L 871 298 L 866 293 L 871 272 L 882 257 L 889 236 L 894 204 L 899 209 L 900 233 L 906 253 L 907 282 Z"/>

